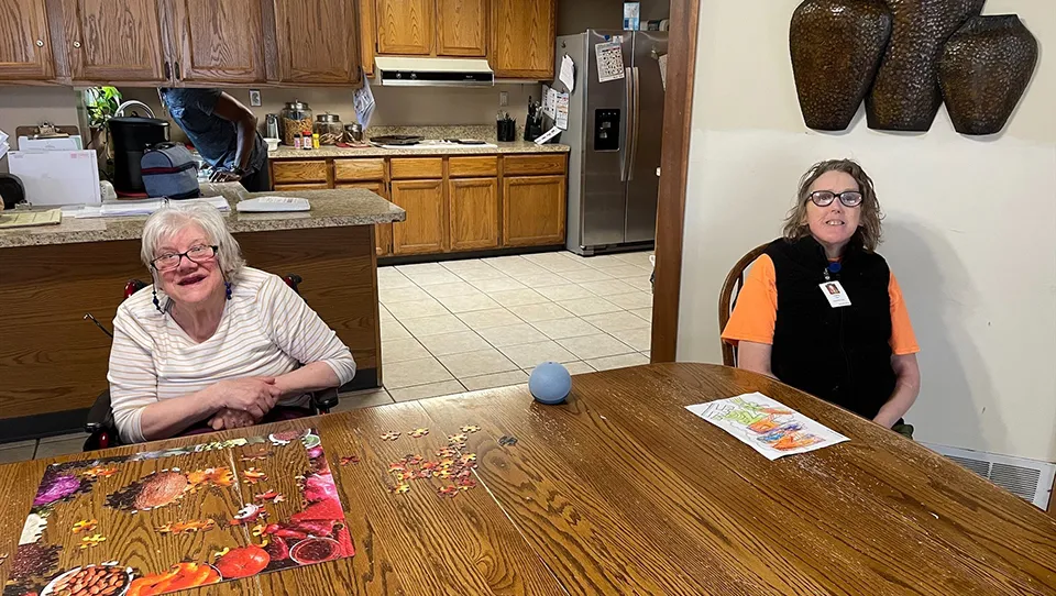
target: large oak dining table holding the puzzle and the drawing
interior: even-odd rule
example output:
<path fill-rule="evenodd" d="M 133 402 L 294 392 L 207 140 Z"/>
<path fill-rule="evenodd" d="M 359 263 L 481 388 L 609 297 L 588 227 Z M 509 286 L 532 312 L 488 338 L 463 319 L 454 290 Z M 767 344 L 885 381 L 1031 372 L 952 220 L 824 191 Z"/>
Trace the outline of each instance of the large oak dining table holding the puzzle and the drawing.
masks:
<path fill-rule="evenodd" d="M 850 440 L 769 461 L 685 409 L 750 391 Z M 480 428 L 466 440 L 475 488 L 393 492 L 393 462 L 465 426 Z M 557 406 L 512 386 L 92 456 L 309 427 L 355 555 L 187 594 L 1056 594 L 1053 518 L 870 421 L 707 364 L 576 375 Z M 0 466 L 0 554 L 45 466 L 77 459 Z"/>

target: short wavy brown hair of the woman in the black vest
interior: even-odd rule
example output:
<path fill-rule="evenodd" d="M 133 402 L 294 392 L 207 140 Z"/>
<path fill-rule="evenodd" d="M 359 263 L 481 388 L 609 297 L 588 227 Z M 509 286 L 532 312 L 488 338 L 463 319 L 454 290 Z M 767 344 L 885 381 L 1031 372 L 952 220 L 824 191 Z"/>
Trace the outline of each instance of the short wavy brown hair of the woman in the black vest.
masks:
<path fill-rule="evenodd" d="M 861 245 L 866 251 L 876 251 L 882 236 L 880 220 L 883 219 L 883 213 L 880 211 L 880 200 L 877 199 L 877 191 L 872 187 L 872 178 L 853 159 L 818 162 L 806 170 L 806 174 L 800 178 L 795 206 L 789 211 L 788 219 L 784 220 L 784 238 L 799 240 L 811 233 L 810 227 L 803 223 L 806 218 L 806 201 L 811 197 L 811 186 L 828 172 L 843 172 L 858 183 L 858 191 L 861 192 L 861 205 L 859 206 L 861 219 L 856 234 L 861 239 Z"/>

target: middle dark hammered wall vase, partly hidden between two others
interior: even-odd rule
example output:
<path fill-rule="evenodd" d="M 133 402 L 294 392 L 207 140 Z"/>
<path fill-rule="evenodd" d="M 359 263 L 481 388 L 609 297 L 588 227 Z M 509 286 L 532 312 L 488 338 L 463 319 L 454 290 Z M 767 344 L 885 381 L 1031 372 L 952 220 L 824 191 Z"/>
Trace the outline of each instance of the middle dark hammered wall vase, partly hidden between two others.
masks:
<path fill-rule="evenodd" d="M 938 62 L 946 41 L 986 0 L 886 0 L 892 14 L 891 42 L 866 97 L 870 129 L 924 132 L 943 96 Z"/>

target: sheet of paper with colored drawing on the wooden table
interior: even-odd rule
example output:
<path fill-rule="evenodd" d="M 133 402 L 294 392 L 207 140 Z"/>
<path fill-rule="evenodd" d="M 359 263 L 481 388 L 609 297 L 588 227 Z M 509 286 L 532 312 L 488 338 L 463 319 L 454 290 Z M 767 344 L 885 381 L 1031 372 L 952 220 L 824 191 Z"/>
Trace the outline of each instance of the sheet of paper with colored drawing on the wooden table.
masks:
<path fill-rule="evenodd" d="M 733 434 L 769 460 L 848 440 L 759 393 L 686 406 L 686 409 Z"/>

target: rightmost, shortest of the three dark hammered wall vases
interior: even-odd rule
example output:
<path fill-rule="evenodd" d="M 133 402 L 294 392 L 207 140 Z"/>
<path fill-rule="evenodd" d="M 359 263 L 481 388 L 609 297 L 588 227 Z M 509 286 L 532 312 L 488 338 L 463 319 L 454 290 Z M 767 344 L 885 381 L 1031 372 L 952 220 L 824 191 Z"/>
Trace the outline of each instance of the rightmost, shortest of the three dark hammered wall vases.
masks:
<path fill-rule="evenodd" d="M 975 16 L 943 51 L 938 80 L 954 129 L 994 134 L 1023 97 L 1037 63 L 1037 40 L 1015 14 Z"/>

